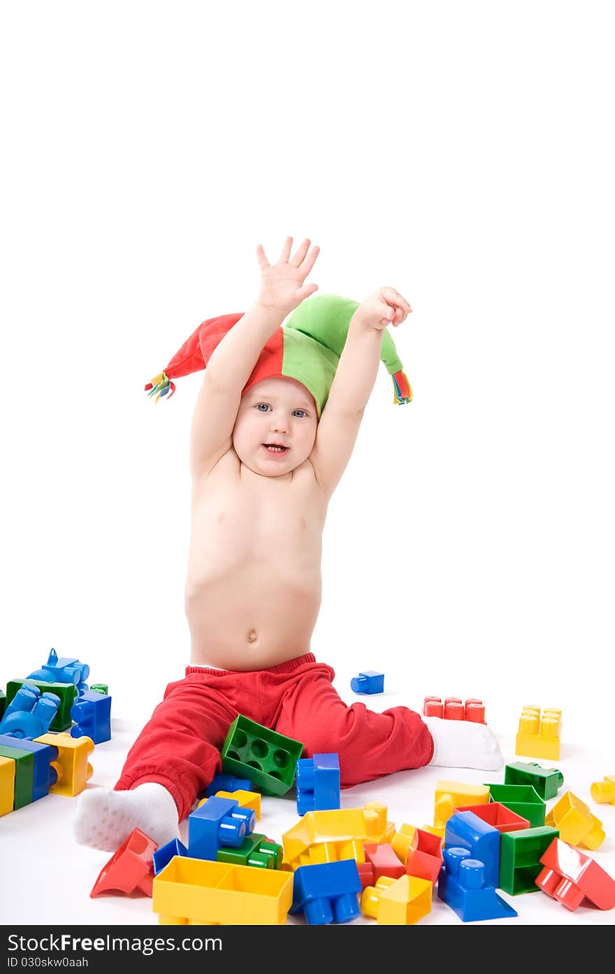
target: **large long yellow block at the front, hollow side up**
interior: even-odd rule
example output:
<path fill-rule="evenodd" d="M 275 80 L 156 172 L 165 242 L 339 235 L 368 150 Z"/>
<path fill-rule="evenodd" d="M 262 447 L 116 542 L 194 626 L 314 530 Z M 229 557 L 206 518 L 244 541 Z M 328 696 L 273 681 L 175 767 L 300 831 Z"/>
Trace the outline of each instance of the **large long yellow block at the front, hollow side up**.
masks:
<path fill-rule="evenodd" d="M 163 924 L 275 924 L 293 902 L 292 873 L 173 856 L 152 881 L 152 909 Z"/>

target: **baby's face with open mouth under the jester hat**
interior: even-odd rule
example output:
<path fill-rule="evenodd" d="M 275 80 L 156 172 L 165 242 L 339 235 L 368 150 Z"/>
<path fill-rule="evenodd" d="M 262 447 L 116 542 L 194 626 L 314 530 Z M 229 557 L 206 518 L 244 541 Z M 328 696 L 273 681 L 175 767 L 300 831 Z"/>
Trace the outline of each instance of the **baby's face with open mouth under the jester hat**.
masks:
<path fill-rule="evenodd" d="M 316 404 L 296 379 L 262 379 L 241 396 L 233 431 L 242 464 L 265 477 L 290 473 L 308 459 L 316 438 Z M 271 450 L 265 444 L 286 447 Z"/>

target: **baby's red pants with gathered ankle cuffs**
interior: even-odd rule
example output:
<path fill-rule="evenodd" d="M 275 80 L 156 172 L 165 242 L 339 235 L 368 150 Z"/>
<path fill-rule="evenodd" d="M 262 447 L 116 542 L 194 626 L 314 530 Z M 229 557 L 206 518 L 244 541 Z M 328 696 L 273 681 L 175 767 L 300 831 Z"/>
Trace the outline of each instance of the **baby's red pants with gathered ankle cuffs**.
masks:
<path fill-rule="evenodd" d="M 116 790 L 157 781 L 175 799 L 181 821 L 221 771 L 220 748 L 238 714 L 301 741 L 303 757 L 337 753 L 344 787 L 429 763 L 433 740 L 414 710 L 378 714 L 364 703 L 346 706 L 334 677 L 311 653 L 245 672 L 187 666 L 128 751 Z"/>

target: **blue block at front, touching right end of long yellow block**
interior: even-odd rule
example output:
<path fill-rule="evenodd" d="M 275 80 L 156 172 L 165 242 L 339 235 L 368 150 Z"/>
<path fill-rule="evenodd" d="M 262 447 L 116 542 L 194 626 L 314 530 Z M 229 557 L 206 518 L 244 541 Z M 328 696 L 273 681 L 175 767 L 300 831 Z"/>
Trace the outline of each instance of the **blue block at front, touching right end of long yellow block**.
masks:
<path fill-rule="evenodd" d="M 300 866 L 293 880 L 291 914 L 308 923 L 345 923 L 359 916 L 361 880 L 354 859 Z"/>

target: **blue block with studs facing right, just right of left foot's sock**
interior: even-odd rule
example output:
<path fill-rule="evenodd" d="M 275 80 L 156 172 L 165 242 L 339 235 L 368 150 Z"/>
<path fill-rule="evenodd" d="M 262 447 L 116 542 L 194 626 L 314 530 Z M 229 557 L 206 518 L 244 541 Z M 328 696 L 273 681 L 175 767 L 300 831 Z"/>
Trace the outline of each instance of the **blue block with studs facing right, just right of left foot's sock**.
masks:
<path fill-rule="evenodd" d="M 253 808 L 241 808 L 235 799 L 212 795 L 188 816 L 188 855 L 215 859 L 221 845 L 240 845 L 254 831 Z"/>

